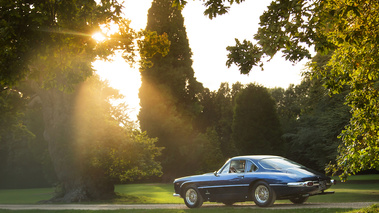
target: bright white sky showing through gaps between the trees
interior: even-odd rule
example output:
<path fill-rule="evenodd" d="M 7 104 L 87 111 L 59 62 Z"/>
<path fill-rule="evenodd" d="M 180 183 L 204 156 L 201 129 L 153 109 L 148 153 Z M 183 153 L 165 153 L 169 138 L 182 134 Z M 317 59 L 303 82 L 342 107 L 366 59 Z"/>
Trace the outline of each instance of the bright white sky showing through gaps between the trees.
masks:
<path fill-rule="evenodd" d="M 241 75 L 236 66 L 226 67 L 227 46 L 235 45 L 235 38 L 253 40 L 257 32 L 259 16 L 266 10 L 272 0 L 246 0 L 240 5 L 233 5 L 229 14 L 218 16 L 213 20 L 203 15 L 205 7 L 200 0 L 188 1 L 182 14 L 192 50 L 192 68 L 195 77 L 204 87 L 217 90 L 222 82 L 233 84 L 237 81 L 258 83 L 266 87 L 287 88 L 289 84 L 299 84 L 300 72 L 305 61 L 293 65 L 277 55 L 265 63 L 264 71 L 254 68 L 250 74 Z M 131 26 L 144 29 L 147 21 L 147 11 L 152 0 L 125 0 L 124 14 L 132 20 Z M 138 89 L 141 78 L 138 67 L 134 69 L 123 61 L 120 56 L 114 57 L 113 62 L 96 61 L 94 68 L 98 74 L 107 79 L 110 85 L 119 89 L 125 95 L 131 109 L 131 119 L 137 120 L 139 112 Z"/>

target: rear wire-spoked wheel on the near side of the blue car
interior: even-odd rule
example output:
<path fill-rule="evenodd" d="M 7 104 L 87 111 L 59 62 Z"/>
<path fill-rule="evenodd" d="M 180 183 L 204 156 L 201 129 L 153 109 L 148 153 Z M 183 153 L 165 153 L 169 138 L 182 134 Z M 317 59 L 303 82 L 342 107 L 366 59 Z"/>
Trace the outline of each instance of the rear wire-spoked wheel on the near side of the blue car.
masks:
<path fill-rule="evenodd" d="M 263 181 L 259 181 L 253 187 L 253 200 L 259 207 L 272 206 L 276 199 L 274 190 Z"/>

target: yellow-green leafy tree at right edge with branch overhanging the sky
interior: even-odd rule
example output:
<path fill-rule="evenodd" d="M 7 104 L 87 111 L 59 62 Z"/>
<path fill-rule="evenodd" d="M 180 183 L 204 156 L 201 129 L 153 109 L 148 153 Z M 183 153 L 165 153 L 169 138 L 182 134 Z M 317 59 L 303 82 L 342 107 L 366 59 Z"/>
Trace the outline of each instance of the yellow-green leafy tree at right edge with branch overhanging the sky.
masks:
<path fill-rule="evenodd" d="M 210 2 L 221 4 L 215 14 L 225 13 L 225 1 Z M 209 4 L 206 6 L 208 10 Z M 325 79 L 331 94 L 349 88 L 346 104 L 352 109 L 352 118 L 341 132 L 337 163 L 330 167 L 343 171 L 342 178 L 379 168 L 378 7 L 378 1 L 371 0 L 276 0 L 260 17 L 254 36 L 257 44 L 236 40 L 235 47 L 227 48 L 227 64 L 235 63 L 244 74 L 253 66 L 263 66 L 264 57 L 270 59 L 279 51 L 293 63 L 311 58 L 307 46 L 318 53 L 333 52 L 326 66 L 314 70 Z"/>

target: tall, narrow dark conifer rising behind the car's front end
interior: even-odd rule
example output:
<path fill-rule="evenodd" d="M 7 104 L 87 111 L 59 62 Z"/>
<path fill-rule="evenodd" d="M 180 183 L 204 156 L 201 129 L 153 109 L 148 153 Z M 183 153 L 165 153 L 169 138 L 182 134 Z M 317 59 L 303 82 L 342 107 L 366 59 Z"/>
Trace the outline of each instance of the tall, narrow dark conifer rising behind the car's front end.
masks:
<path fill-rule="evenodd" d="M 192 123 L 200 112 L 197 94 L 202 85 L 192 69 L 184 19 L 172 0 L 154 0 L 148 12 L 146 30 L 167 34 L 167 56 L 153 56 L 151 66 L 141 68 L 139 92 L 140 126 L 150 137 L 158 137 L 163 151 L 163 169 L 167 178 L 194 168 L 196 144 Z M 180 163 L 179 163 L 180 162 Z M 187 171 L 186 171 L 187 170 Z"/>

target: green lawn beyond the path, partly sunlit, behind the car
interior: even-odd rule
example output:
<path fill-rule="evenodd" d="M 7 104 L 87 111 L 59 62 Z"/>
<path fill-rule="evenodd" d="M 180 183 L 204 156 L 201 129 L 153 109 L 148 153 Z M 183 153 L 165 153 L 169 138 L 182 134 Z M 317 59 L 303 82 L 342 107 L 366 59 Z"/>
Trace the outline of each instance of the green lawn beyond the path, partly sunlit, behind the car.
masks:
<path fill-rule="evenodd" d="M 118 196 L 115 199 L 101 203 L 114 204 L 144 204 L 144 203 L 183 203 L 180 198 L 173 197 L 172 184 L 124 184 L 116 185 Z M 349 178 L 346 183 L 337 183 L 328 191 L 335 191 L 332 195 L 310 197 L 311 203 L 334 202 L 378 202 L 379 175 L 360 175 Z M 0 190 L 0 204 L 35 204 L 52 197 L 53 188 Z M 289 203 L 277 201 L 276 203 Z"/>

